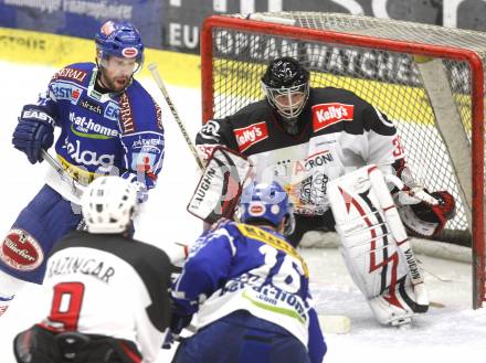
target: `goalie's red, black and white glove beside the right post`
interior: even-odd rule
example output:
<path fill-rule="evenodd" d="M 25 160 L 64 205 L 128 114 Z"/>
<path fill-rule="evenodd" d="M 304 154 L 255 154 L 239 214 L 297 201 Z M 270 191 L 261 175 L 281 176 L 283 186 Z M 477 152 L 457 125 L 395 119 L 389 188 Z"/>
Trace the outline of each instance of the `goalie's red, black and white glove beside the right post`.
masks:
<path fill-rule="evenodd" d="M 430 193 L 421 186 L 408 188 L 394 175 L 385 175 L 399 192 L 394 194 L 400 217 L 411 235 L 433 237 L 455 215 L 455 199 L 447 191 Z"/>

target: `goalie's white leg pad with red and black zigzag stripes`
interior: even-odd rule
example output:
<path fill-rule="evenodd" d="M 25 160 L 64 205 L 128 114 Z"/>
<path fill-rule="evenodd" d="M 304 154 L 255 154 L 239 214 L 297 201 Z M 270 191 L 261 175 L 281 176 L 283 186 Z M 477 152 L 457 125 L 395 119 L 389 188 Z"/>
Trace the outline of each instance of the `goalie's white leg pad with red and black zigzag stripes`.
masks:
<path fill-rule="evenodd" d="M 383 175 L 374 166 L 328 184 L 341 254 L 377 320 L 403 323 L 429 299 L 406 232 Z"/>

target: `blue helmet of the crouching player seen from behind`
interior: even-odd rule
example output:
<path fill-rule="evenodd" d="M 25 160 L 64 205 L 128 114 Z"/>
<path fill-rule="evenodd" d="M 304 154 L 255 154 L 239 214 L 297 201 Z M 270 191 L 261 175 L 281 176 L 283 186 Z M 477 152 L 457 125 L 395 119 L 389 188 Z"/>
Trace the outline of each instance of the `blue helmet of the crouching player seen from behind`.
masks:
<path fill-rule="evenodd" d="M 270 223 L 277 227 L 284 221 L 284 235 L 295 228 L 294 209 L 287 192 L 277 182 L 253 182 L 243 190 L 240 202 L 240 221 Z"/>

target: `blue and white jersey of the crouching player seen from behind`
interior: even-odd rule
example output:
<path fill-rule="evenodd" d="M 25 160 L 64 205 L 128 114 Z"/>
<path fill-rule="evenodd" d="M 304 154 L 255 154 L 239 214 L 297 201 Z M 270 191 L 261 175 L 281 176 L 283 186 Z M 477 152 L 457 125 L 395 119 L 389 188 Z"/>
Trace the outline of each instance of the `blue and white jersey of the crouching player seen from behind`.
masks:
<path fill-rule="evenodd" d="M 283 236 L 230 222 L 196 242 L 172 298 L 181 314 L 197 312 L 198 329 L 246 310 L 290 332 L 321 362 L 325 343 L 308 285 L 306 263 Z"/>

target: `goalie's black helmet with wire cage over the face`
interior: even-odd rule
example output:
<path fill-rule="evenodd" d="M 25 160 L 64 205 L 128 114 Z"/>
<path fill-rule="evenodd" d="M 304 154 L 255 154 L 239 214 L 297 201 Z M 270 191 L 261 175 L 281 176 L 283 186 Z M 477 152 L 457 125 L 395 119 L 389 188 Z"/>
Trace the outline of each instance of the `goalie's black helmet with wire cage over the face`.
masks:
<path fill-rule="evenodd" d="M 262 88 L 284 121 L 295 124 L 309 97 L 309 72 L 292 57 L 276 58 L 262 77 Z"/>

